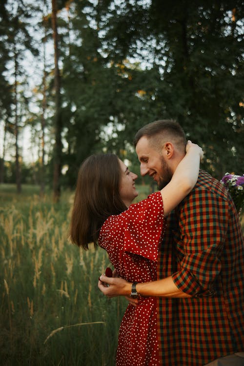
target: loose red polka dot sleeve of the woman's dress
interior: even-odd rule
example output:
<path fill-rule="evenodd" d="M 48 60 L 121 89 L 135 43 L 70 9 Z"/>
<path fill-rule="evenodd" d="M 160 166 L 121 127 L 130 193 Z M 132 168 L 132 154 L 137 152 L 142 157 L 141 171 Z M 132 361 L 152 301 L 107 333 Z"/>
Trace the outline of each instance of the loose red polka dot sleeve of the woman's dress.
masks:
<path fill-rule="evenodd" d="M 131 204 L 120 215 L 108 218 L 102 226 L 101 246 L 106 249 L 108 241 L 111 244 L 120 240 L 123 251 L 157 261 L 163 227 L 163 200 L 161 193 L 156 192 Z"/>

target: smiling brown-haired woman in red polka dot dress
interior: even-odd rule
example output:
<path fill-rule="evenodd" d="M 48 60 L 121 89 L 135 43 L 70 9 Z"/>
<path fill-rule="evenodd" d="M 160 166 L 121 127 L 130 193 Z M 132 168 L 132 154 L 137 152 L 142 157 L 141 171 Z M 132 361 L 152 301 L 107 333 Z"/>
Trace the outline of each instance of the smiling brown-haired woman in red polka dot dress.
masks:
<path fill-rule="evenodd" d="M 93 155 L 81 165 L 71 218 L 71 240 L 88 249 L 93 242 L 104 248 L 118 275 L 129 282 L 156 280 L 164 216 L 174 209 L 197 182 L 202 149 L 187 143 L 186 155 L 170 183 L 140 203 L 137 175 L 116 155 Z M 129 208 L 128 208 L 129 207 Z M 160 365 L 157 308 L 153 297 L 128 305 L 122 319 L 117 366 Z"/>

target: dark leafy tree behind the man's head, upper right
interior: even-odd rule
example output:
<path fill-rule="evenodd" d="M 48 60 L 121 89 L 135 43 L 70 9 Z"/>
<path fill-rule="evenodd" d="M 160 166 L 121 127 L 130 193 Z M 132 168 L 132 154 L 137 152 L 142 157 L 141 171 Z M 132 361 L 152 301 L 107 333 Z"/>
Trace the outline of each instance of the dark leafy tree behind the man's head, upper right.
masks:
<path fill-rule="evenodd" d="M 204 146 L 204 165 L 215 176 L 230 161 L 243 171 L 243 2 L 104 0 L 98 9 L 109 60 L 138 58 L 158 75 L 153 102 L 143 88 L 148 122 L 177 119 Z M 140 126 L 136 120 L 135 131 Z"/>

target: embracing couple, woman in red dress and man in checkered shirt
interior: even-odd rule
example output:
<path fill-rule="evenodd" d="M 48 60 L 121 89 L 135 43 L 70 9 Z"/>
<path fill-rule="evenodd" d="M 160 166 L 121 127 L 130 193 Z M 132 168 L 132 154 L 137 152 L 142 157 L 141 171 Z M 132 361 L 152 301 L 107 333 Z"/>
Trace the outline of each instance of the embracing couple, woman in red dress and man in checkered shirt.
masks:
<path fill-rule="evenodd" d="M 131 204 L 136 174 L 113 154 L 81 165 L 71 239 L 103 247 L 118 278 L 111 297 L 130 296 L 117 366 L 244 365 L 244 241 L 224 186 L 199 170 L 202 149 L 161 120 L 135 137 L 142 176 L 159 191 Z M 109 284 L 107 287 L 106 284 Z"/>

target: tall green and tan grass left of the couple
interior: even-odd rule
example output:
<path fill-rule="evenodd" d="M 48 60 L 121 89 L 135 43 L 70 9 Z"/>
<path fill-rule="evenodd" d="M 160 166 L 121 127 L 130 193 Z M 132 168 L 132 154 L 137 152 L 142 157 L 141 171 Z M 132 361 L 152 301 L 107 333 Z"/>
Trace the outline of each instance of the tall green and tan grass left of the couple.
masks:
<path fill-rule="evenodd" d="M 126 301 L 97 287 L 107 254 L 69 243 L 71 193 L 30 188 L 0 186 L 0 365 L 113 366 Z"/>

